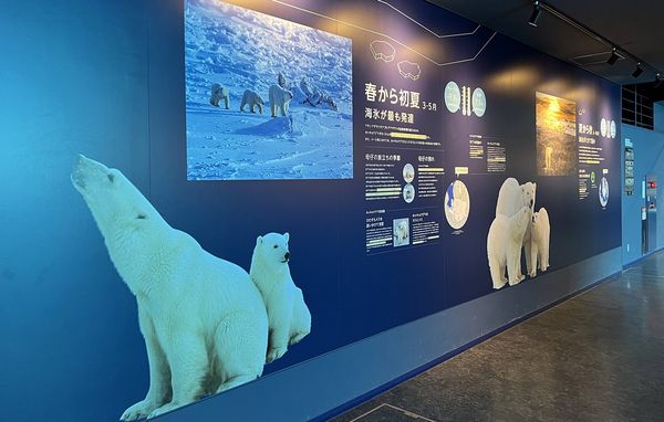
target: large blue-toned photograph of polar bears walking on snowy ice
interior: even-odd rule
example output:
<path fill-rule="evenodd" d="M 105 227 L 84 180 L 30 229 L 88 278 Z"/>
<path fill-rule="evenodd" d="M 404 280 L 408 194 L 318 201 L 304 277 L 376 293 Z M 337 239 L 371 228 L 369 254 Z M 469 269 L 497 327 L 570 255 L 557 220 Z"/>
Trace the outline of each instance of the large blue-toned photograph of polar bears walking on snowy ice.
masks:
<path fill-rule="evenodd" d="M 350 39 L 185 3 L 188 180 L 353 177 Z"/>

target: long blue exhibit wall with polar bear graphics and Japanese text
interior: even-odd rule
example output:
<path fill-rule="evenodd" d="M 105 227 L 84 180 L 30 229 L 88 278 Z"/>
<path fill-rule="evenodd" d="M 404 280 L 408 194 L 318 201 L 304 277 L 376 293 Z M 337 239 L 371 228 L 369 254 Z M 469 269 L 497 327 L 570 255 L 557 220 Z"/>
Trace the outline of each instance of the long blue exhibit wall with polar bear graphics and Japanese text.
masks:
<path fill-rule="evenodd" d="M 0 35 L 9 420 L 317 418 L 620 271 L 619 86 L 425 1 Z"/>

